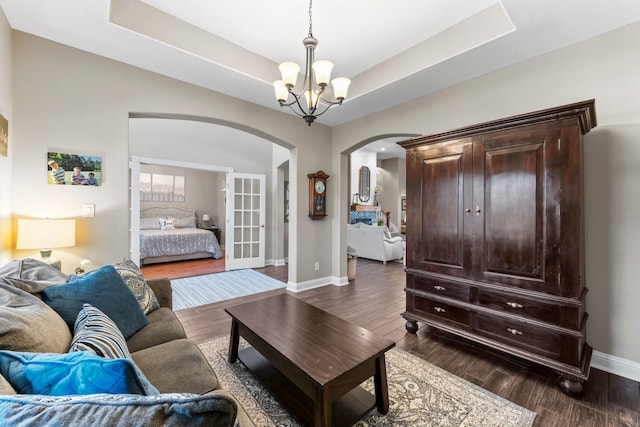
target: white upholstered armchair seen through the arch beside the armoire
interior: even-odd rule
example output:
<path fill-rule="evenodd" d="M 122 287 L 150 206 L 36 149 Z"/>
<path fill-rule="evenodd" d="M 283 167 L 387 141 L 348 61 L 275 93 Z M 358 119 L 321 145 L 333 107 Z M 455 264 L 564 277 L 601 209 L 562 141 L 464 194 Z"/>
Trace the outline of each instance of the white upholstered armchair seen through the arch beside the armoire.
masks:
<path fill-rule="evenodd" d="M 387 227 L 364 223 L 347 225 L 347 245 L 359 257 L 382 261 L 402 259 L 402 237 L 391 237 Z"/>

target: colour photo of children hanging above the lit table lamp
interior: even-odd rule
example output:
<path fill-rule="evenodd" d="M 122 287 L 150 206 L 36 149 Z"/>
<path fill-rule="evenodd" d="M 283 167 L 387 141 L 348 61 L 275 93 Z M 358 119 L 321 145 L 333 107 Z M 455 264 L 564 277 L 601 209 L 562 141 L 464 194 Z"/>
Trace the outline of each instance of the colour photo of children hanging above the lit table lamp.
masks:
<path fill-rule="evenodd" d="M 47 183 L 102 185 L 102 157 L 61 152 L 47 153 Z"/>

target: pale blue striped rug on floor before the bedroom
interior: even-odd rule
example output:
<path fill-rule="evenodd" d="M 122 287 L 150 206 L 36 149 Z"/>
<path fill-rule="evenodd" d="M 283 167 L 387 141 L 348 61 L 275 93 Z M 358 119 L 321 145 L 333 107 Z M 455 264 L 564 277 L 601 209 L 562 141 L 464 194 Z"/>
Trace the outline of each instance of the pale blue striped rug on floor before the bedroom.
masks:
<path fill-rule="evenodd" d="M 286 283 L 251 269 L 173 279 L 173 310 L 184 310 L 286 286 Z"/>

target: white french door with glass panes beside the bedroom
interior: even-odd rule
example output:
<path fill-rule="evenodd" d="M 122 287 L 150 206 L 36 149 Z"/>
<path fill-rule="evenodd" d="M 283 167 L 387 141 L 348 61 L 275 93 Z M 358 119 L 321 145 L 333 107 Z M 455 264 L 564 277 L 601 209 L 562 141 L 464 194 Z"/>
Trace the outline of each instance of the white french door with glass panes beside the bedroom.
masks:
<path fill-rule="evenodd" d="M 265 198 L 265 175 L 227 174 L 227 270 L 264 267 Z"/>

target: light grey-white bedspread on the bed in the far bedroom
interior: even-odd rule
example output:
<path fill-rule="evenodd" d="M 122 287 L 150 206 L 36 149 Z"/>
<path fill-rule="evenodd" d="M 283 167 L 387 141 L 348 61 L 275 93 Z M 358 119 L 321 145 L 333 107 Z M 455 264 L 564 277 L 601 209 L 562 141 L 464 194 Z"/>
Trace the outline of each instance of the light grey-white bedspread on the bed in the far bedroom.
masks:
<path fill-rule="evenodd" d="M 216 236 L 208 230 L 199 228 L 140 230 L 140 259 L 196 252 L 209 252 L 215 259 L 222 257 Z"/>

